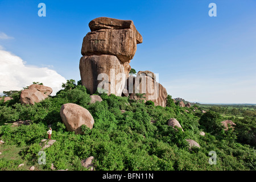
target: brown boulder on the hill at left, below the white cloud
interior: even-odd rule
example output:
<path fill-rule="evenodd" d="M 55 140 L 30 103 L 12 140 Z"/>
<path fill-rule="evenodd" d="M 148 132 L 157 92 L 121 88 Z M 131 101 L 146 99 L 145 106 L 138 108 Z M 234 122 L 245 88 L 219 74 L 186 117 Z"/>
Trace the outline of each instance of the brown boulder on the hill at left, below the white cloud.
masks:
<path fill-rule="evenodd" d="M 52 93 L 52 89 L 44 85 L 30 85 L 28 89 L 22 90 L 20 94 L 20 102 L 22 104 L 34 105 L 35 102 L 45 100 L 49 94 Z"/>

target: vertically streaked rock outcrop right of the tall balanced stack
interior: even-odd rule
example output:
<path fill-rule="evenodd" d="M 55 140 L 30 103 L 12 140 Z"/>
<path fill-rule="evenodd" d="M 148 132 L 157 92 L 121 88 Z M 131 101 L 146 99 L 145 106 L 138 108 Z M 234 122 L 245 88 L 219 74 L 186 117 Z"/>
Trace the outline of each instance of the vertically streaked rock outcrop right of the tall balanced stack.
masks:
<path fill-rule="evenodd" d="M 145 101 L 154 102 L 155 106 L 166 106 L 167 102 L 167 91 L 163 85 L 159 84 L 155 80 L 156 76 L 153 72 L 150 71 L 139 71 L 137 77 L 133 79 L 133 90 L 129 88 L 130 99 L 138 100 L 137 93 L 144 93 Z M 130 84 L 129 84 L 130 87 Z"/>

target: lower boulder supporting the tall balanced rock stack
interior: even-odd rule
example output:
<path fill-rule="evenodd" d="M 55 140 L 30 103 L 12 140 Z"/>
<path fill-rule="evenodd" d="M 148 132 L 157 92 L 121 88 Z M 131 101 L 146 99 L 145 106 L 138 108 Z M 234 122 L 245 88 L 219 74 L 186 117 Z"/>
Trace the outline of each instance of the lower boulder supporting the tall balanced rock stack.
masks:
<path fill-rule="evenodd" d="M 95 93 L 99 87 L 108 90 L 109 94 L 121 96 L 126 76 L 124 67 L 117 57 L 112 55 L 82 56 L 79 69 L 82 85 L 89 90 L 90 94 Z M 119 79 L 117 79 L 118 76 Z"/>

